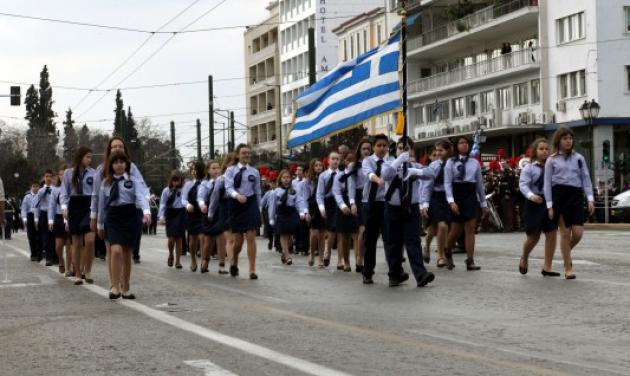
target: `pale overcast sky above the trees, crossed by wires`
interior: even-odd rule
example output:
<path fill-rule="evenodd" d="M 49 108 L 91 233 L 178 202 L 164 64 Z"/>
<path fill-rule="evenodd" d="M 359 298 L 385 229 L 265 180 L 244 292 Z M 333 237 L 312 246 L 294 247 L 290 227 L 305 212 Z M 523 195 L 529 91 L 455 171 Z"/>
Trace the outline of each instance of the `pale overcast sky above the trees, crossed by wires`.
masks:
<path fill-rule="evenodd" d="M 155 31 L 192 4 L 160 29 L 170 32 L 182 30 L 217 5 L 187 30 L 256 24 L 268 16 L 265 9 L 268 3 L 269 0 L 0 0 L 0 13 Z M 208 75 L 215 79 L 215 109 L 233 110 L 237 129 L 238 122 L 246 120 L 244 31 L 245 28 L 240 27 L 173 37 L 173 34 L 110 30 L 0 15 L 0 94 L 9 93 L 9 82 L 37 86 L 40 71 L 48 65 L 58 129 L 62 129 L 65 111 L 71 107 L 77 125 L 87 123 L 90 129 L 111 132 L 115 88 L 119 87 L 123 88 L 125 106 L 132 107 L 136 119 L 149 117 L 166 134 L 170 121 L 175 121 L 176 145 L 185 157 L 196 153 L 195 120 L 199 118 L 204 138 L 202 152 L 206 153 Z M 172 39 L 159 49 L 169 38 Z M 90 92 L 59 87 L 96 88 L 143 43 L 129 61 L 98 86 L 98 89 L 114 90 Z M 153 58 L 141 65 L 154 53 Z M 192 81 L 204 82 L 124 89 Z M 28 85 L 21 86 L 24 95 Z M 25 126 L 24 114 L 23 103 L 20 107 L 11 107 L 8 98 L 0 98 L 0 120 L 8 125 Z M 225 119 L 215 116 L 215 121 Z M 244 132 L 237 131 L 236 136 L 237 143 L 246 140 Z M 222 143 L 223 135 L 217 134 L 216 148 L 221 148 Z"/>

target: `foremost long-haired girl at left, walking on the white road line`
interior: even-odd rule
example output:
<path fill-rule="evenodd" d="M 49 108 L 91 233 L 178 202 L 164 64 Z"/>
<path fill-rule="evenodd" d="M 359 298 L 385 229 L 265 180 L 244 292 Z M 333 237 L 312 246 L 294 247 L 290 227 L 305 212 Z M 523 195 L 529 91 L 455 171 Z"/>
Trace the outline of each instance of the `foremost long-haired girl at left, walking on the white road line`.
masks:
<path fill-rule="evenodd" d="M 111 249 L 112 288 L 110 299 L 135 299 L 130 293 L 131 258 L 133 247 L 142 231 L 136 212 L 141 208 L 144 222 L 151 223 L 151 210 L 146 199 L 143 182 L 130 174 L 131 162 L 124 152 L 110 155 L 101 183 L 97 227 L 100 236 L 109 242 Z"/>

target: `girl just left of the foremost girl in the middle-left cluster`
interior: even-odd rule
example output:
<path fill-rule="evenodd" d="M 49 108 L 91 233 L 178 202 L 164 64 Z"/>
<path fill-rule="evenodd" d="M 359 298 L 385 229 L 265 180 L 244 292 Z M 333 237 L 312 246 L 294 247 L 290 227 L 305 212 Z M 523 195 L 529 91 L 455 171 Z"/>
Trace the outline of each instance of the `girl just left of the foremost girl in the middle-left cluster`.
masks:
<path fill-rule="evenodd" d="M 203 223 L 203 241 L 201 242 L 201 272 L 208 272 L 208 262 L 210 255 L 218 248 L 217 236 L 223 233 L 223 225 L 219 221 L 210 221 L 208 218 L 208 205 L 210 205 L 210 197 L 216 187 L 216 180 L 221 173 L 221 165 L 217 161 L 208 161 L 206 164 L 207 174 L 206 180 L 201 183 L 197 192 L 197 202 L 201 210 Z M 220 253 L 220 252 L 218 252 Z M 225 253 L 219 254 L 219 262 L 225 262 Z"/>

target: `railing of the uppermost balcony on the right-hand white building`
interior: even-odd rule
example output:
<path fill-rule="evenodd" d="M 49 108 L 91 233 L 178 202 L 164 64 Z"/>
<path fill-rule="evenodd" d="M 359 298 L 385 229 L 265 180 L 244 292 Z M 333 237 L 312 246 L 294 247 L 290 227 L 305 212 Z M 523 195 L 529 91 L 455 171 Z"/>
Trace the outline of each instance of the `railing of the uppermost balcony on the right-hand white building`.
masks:
<path fill-rule="evenodd" d="M 423 33 L 419 37 L 410 38 L 409 50 L 430 45 L 435 42 L 450 38 L 454 35 L 471 31 L 479 26 L 485 25 L 492 20 L 501 18 L 520 9 L 538 6 L 538 0 L 514 0 L 502 5 L 491 5 L 480 9 L 464 18 L 460 18 L 446 25 L 437 27 Z"/>

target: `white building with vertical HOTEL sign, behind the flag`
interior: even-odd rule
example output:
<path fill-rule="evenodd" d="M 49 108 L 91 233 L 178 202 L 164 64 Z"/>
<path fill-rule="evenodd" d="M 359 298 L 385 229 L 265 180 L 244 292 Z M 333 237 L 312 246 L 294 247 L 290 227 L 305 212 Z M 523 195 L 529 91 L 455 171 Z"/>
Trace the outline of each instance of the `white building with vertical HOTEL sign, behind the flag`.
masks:
<path fill-rule="evenodd" d="M 308 29 L 311 27 L 315 29 L 315 61 L 317 79 L 320 79 L 339 62 L 339 42 L 333 29 L 344 21 L 382 4 L 383 0 L 279 1 L 283 140 L 286 141 L 293 121 L 295 112 L 293 101 L 309 85 Z"/>

